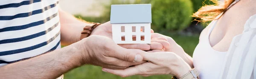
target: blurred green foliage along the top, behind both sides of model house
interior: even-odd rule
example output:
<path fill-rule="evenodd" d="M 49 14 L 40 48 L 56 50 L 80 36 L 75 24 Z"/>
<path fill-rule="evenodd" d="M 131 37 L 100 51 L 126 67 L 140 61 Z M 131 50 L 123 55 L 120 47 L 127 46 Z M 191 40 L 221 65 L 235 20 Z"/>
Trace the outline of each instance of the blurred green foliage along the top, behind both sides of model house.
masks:
<path fill-rule="evenodd" d="M 152 4 L 152 29 L 157 30 L 183 30 L 192 18 L 192 3 L 190 0 L 110 0 L 110 3 L 101 3 L 104 11 L 100 17 L 81 17 L 89 22 L 105 23 L 110 20 L 111 5 L 113 4 Z"/>

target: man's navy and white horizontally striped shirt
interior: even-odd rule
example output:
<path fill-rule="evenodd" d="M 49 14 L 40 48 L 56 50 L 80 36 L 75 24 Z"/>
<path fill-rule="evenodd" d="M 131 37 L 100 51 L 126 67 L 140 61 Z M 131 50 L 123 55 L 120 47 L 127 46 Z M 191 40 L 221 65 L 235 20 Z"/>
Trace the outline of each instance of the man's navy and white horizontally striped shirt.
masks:
<path fill-rule="evenodd" d="M 0 66 L 60 46 L 58 0 L 0 0 Z"/>

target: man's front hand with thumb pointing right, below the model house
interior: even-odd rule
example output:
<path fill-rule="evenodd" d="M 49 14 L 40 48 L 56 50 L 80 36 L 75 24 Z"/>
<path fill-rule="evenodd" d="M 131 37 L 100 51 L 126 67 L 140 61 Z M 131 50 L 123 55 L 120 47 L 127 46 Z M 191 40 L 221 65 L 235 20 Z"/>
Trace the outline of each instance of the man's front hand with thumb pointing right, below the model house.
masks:
<path fill-rule="evenodd" d="M 143 62 L 145 52 L 139 49 L 126 49 L 108 37 L 92 35 L 79 41 L 82 64 L 98 65 L 104 68 L 124 69 Z"/>

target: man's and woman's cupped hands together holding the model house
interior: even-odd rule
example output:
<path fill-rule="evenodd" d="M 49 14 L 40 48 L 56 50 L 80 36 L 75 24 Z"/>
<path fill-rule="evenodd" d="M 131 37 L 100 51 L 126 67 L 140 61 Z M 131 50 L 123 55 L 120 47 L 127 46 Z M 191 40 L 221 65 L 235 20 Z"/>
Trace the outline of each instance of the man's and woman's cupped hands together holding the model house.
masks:
<path fill-rule="evenodd" d="M 151 44 L 119 44 L 113 42 L 109 22 L 95 28 L 90 37 L 80 42 L 81 65 L 101 66 L 102 71 L 122 77 L 170 74 L 181 77 L 191 67 L 183 60 L 185 52 L 171 37 L 151 30 Z"/>

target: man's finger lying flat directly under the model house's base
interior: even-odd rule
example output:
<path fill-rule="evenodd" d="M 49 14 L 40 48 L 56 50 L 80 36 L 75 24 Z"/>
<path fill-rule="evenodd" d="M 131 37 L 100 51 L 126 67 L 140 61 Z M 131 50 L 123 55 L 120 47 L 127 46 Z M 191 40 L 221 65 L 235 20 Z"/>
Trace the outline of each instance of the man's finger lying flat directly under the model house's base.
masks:
<path fill-rule="evenodd" d="M 150 50 L 150 45 L 148 44 L 119 44 L 119 46 L 127 49 L 140 49 L 143 51 Z"/>

